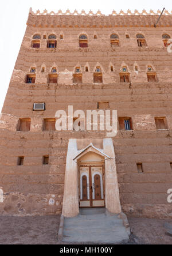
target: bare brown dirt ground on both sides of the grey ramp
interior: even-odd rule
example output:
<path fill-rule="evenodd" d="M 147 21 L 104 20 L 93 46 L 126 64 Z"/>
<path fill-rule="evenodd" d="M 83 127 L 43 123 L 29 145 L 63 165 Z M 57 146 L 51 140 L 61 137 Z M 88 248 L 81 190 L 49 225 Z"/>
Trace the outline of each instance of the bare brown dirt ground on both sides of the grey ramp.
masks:
<path fill-rule="evenodd" d="M 131 244 L 172 244 L 163 225 L 172 220 L 128 218 L 133 234 Z M 60 216 L 0 216 L 0 244 L 58 244 Z"/>

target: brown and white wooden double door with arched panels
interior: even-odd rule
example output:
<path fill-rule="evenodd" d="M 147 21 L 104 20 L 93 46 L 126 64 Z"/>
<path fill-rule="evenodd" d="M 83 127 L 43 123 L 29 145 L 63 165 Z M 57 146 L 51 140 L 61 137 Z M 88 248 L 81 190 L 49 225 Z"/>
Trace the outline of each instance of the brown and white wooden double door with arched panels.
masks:
<path fill-rule="evenodd" d="M 105 207 L 104 165 L 79 166 L 80 208 Z"/>

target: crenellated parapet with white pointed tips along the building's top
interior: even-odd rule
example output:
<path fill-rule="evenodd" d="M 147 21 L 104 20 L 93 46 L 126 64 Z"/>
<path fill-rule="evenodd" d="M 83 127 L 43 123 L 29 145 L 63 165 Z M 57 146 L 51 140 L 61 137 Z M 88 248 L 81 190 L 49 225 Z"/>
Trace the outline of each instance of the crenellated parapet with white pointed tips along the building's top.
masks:
<path fill-rule="evenodd" d="M 105 16 L 98 10 L 93 13 L 91 10 L 85 13 L 82 10 L 80 13 L 75 10 L 71 13 L 69 10 L 57 13 L 47 10 L 36 13 L 30 8 L 27 25 L 30 27 L 52 27 L 52 28 L 112 28 L 112 27 L 154 27 L 161 11 L 154 12 L 150 10 L 149 13 L 143 10 L 139 13 L 135 10 L 133 13 L 128 10 L 124 13 L 122 10 L 117 13 L 115 10 L 108 16 Z M 171 27 L 172 26 L 172 11 L 165 10 L 157 27 Z"/>

